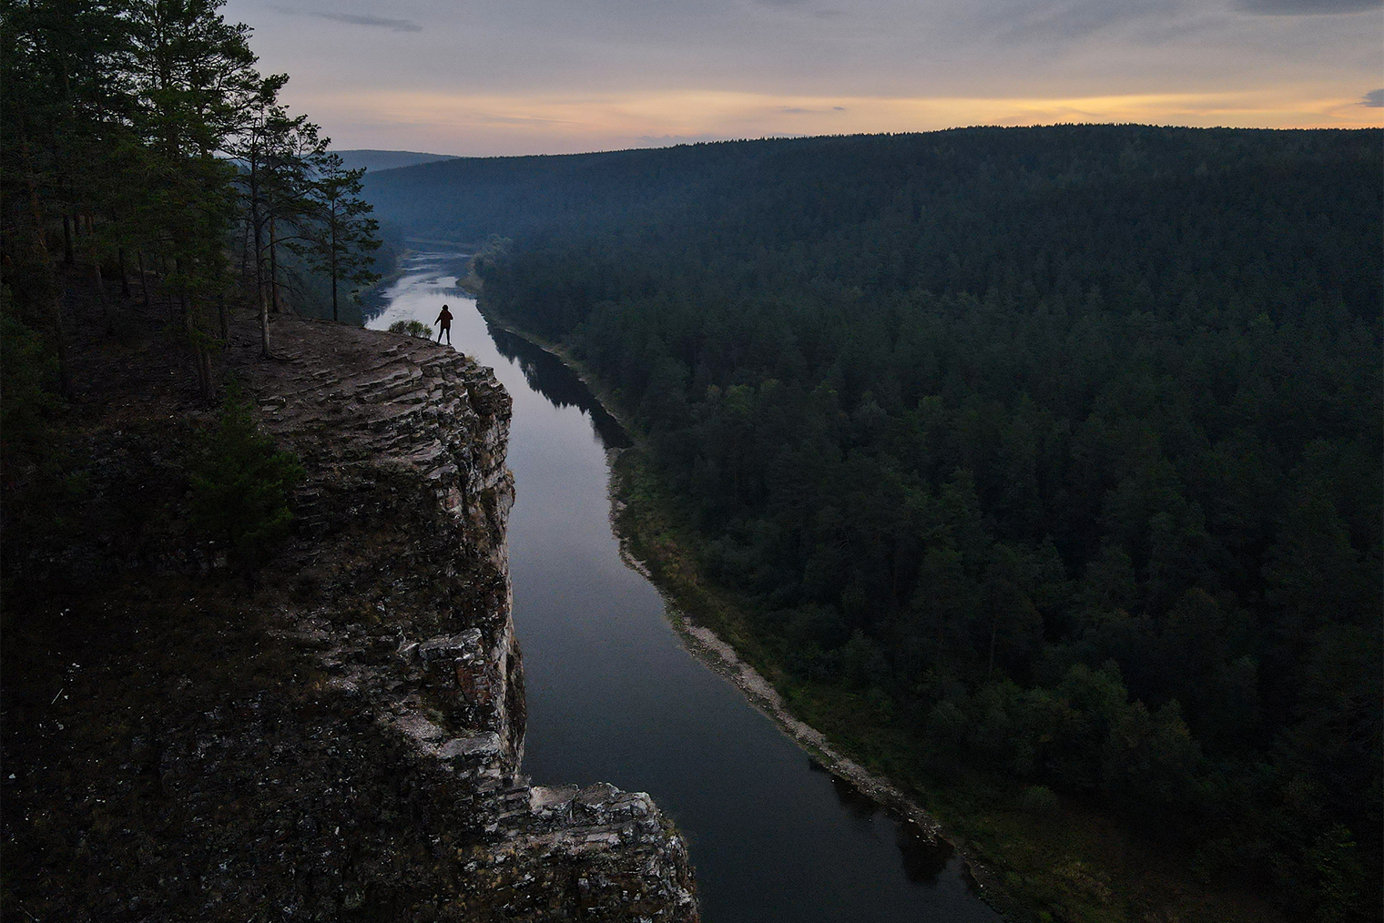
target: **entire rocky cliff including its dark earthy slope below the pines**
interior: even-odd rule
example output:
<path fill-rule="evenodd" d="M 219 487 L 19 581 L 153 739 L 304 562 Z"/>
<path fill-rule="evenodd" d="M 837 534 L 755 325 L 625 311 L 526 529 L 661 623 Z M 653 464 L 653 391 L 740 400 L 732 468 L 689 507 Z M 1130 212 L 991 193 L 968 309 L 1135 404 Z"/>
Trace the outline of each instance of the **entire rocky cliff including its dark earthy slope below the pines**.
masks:
<path fill-rule="evenodd" d="M 4 898 L 73 920 L 695 920 L 648 794 L 522 772 L 508 394 L 425 340 L 274 329 L 284 361 L 244 331 L 226 371 L 307 477 L 252 588 L 167 513 L 205 414 L 152 389 L 162 368 L 143 405 L 93 372 L 87 505 L 130 509 L 29 551 L 48 583 L 7 601 Z"/>

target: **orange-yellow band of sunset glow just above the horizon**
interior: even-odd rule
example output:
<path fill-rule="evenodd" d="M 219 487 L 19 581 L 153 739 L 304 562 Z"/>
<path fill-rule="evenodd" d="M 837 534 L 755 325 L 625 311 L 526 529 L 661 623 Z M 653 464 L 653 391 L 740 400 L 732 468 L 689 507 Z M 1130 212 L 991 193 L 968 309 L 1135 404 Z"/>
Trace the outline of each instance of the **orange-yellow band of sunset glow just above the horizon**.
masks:
<path fill-rule="evenodd" d="M 426 145 L 465 155 L 562 154 L 711 138 L 931 131 L 967 125 L 1138 122 L 1273 129 L 1384 125 L 1384 109 L 1365 107 L 1358 95 L 1345 95 L 1338 86 L 1052 98 L 794 97 L 725 91 L 313 95 L 299 102 L 338 126 L 336 147 Z M 397 140 L 385 144 L 381 136 Z"/>

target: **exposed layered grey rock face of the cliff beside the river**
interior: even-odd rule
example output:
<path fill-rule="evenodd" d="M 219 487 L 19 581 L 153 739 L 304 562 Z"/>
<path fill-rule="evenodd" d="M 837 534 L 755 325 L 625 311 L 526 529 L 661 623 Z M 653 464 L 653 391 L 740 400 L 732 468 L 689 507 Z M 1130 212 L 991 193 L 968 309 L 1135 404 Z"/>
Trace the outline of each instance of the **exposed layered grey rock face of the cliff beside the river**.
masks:
<path fill-rule="evenodd" d="M 437 913 L 695 920 L 685 846 L 649 796 L 520 771 L 509 396 L 426 340 L 296 320 L 277 338 L 286 361 L 237 369 L 309 472 L 285 567 L 307 605 L 275 634 L 316 659 L 324 696 L 407 743 L 400 771 L 450 839 L 428 858 L 451 866 Z"/>

